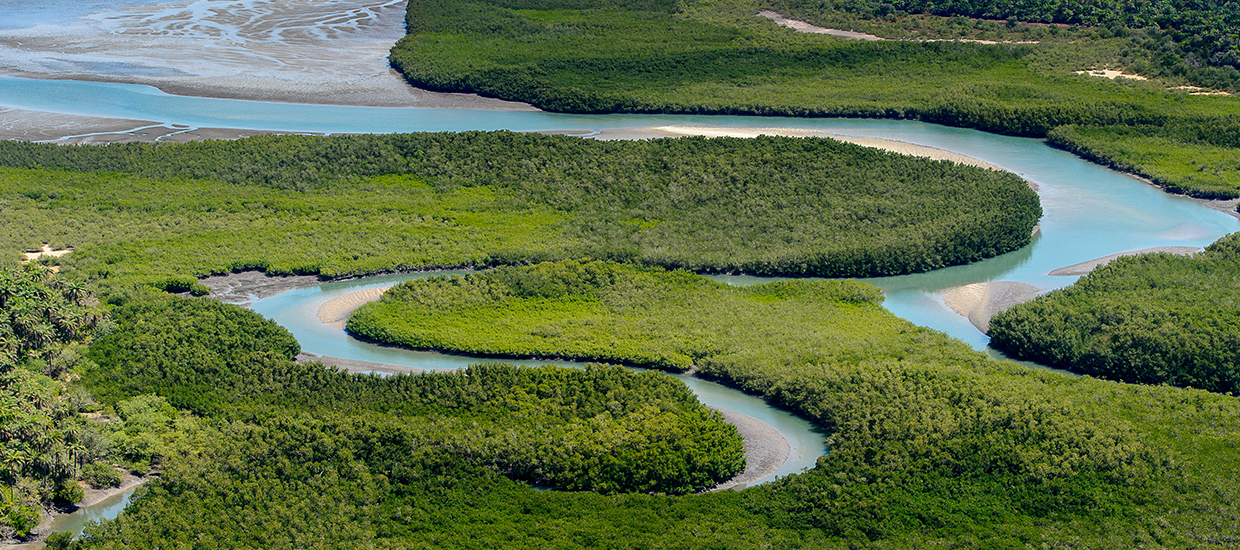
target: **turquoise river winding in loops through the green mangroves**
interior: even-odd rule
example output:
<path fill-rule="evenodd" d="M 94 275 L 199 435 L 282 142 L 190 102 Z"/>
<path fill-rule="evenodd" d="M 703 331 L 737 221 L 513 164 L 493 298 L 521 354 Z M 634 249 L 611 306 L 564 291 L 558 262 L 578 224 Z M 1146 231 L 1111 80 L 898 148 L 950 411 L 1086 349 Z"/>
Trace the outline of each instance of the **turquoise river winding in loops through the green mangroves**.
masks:
<path fill-rule="evenodd" d="M 944 294 L 962 285 L 1012 281 L 1045 291 L 1075 281 L 1052 270 L 1114 253 L 1154 247 L 1208 245 L 1240 229 L 1235 217 L 1199 201 L 1171 196 L 1133 177 L 1089 164 L 1034 139 L 908 120 L 795 119 L 759 116 L 564 115 L 543 111 L 362 108 L 260 103 L 169 95 L 155 88 L 73 81 L 0 77 L 0 105 L 89 116 L 149 120 L 186 128 L 238 128 L 304 133 L 393 131 L 574 131 L 582 134 L 651 126 L 795 129 L 854 138 L 880 138 L 967 155 L 1016 172 L 1037 186 L 1045 214 L 1032 245 L 971 265 L 926 274 L 870 279 L 883 289 L 885 307 L 916 325 L 944 331 L 975 348 L 987 337 L 945 305 Z M 407 274 L 330 282 L 298 289 L 253 303 L 289 328 L 308 352 L 405 364 L 419 369 L 460 368 L 476 359 L 407 352 L 348 338 L 315 316 L 317 307 L 343 294 L 425 276 Z M 722 276 L 729 284 L 766 281 Z M 523 362 L 541 363 L 541 362 Z M 823 437 L 808 422 L 775 410 L 758 398 L 694 378 L 681 377 L 699 398 L 722 409 L 761 420 L 794 447 L 777 474 L 811 467 L 825 451 Z"/>

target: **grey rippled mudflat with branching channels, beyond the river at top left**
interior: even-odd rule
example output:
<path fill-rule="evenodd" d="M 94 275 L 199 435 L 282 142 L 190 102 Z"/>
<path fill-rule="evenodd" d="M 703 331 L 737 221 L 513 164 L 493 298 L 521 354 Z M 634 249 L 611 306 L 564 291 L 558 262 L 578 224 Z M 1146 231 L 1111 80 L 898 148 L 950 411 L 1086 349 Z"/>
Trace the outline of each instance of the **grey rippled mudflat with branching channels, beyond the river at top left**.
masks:
<path fill-rule="evenodd" d="M 181 0 L 72 21 L 0 30 L 0 72 L 238 99 L 528 109 L 405 84 L 387 61 L 404 36 L 402 0 Z"/>

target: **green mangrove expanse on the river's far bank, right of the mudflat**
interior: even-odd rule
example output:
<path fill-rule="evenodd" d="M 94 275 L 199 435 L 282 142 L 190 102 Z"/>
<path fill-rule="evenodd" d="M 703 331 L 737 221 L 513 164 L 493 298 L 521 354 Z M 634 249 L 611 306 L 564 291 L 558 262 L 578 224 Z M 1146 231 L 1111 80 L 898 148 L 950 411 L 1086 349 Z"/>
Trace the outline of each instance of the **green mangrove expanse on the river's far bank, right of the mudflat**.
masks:
<path fill-rule="evenodd" d="M 1075 125 L 1080 131 L 1060 131 L 1053 142 L 1156 176 L 1177 192 L 1240 196 L 1234 171 L 1214 173 L 1183 166 L 1185 157 L 1207 145 L 1219 149 L 1215 156 L 1220 162 L 1235 159 L 1240 102 L 1174 88 L 1195 84 L 1240 92 L 1240 71 L 1229 64 L 1230 57 L 1215 59 L 1215 53 L 1234 45 L 1213 38 L 1230 36 L 1226 40 L 1234 41 L 1234 33 L 1220 28 L 1235 25 L 1209 33 L 1188 30 L 1213 25 L 1188 22 L 1188 11 L 1195 14 L 1193 17 L 1228 17 L 1224 14 L 1233 7 L 1210 11 L 1203 2 L 1182 14 L 1185 26 L 1148 26 L 1148 17 L 1140 14 L 1164 4 L 1132 10 L 1137 17 L 1131 21 L 1137 25 L 1133 28 L 1081 30 L 1009 28 L 959 16 L 874 16 L 870 6 L 882 11 L 888 5 L 882 0 L 420 0 L 409 4 L 410 33 L 393 48 L 392 63 L 417 85 L 476 92 L 558 111 L 910 118 L 1037 138 Z M 970 5 L 986 12 L 999 4 Z M 1039 7 L 1049 5 L 1003 4 L 1003 9 L 1037 14 L 1028 20 L 1063 19 L 1068 4 L 1054 5 L 1052 11 L 1060 15 Z M 755 16 L 769 7 L 827 26 L 914 40 L 861 42 L 797 33 Z M 895 7 L 961 11 L 954 2 L 934 7 L 901 2 Z M 1111 2 L 1096 4 L 1079 15 L 1085 21 L 1114 9 Z M 1224 50 L 1177 42 L 1189 35 L 1218 42 Z M 1038 43 L 920 41 L 978 37 Z M 1183 48 L 1200 50 L 1220 64 L 1202 66 Z M 1102 67 L 1158 78 L 1107 81 L 1074 74 Z M 1106 130 L 1131 125 L 1151 128 L 1166 156 L 1147 154 L 1154 145 L 1145 135 Z M 1176 130 L 1153 130 L 1158 126 Z"/>

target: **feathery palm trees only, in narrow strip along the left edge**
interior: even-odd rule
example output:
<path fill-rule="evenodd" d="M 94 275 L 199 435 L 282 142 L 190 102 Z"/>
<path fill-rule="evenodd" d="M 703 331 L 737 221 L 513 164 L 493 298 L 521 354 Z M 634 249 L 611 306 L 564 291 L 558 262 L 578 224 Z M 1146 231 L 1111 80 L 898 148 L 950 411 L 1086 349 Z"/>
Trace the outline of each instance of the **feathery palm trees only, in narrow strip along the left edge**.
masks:
<path fill-rule="evenodd" d="M 77 414 L 89 398 L 63 370 L 81 365 L 68 344 L 94 328 L 93 306 L 82 285 L 47 268 L 0 265 L 0 540 L 27 536 L 43 505 L 82 499 L 74 476 L 91 448 Z"/>

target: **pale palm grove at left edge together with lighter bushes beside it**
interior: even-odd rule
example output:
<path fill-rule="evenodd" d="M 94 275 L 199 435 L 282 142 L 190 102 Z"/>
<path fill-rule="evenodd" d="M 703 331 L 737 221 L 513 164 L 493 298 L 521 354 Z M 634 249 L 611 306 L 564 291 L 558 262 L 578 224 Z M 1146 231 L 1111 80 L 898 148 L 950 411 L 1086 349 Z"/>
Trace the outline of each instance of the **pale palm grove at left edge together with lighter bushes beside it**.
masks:
<path fill-rule="evenodd" d="M 36 265 L 0 265 L 0 540 L 21 538 L 47 507 L 72 507 L 83 484 L 119 483 L 115 466 L 146 473 L 170 445 L 175 410 L 146 396 L 115 415 L 74 379 L 100 311 L 81 282 Z"/>

